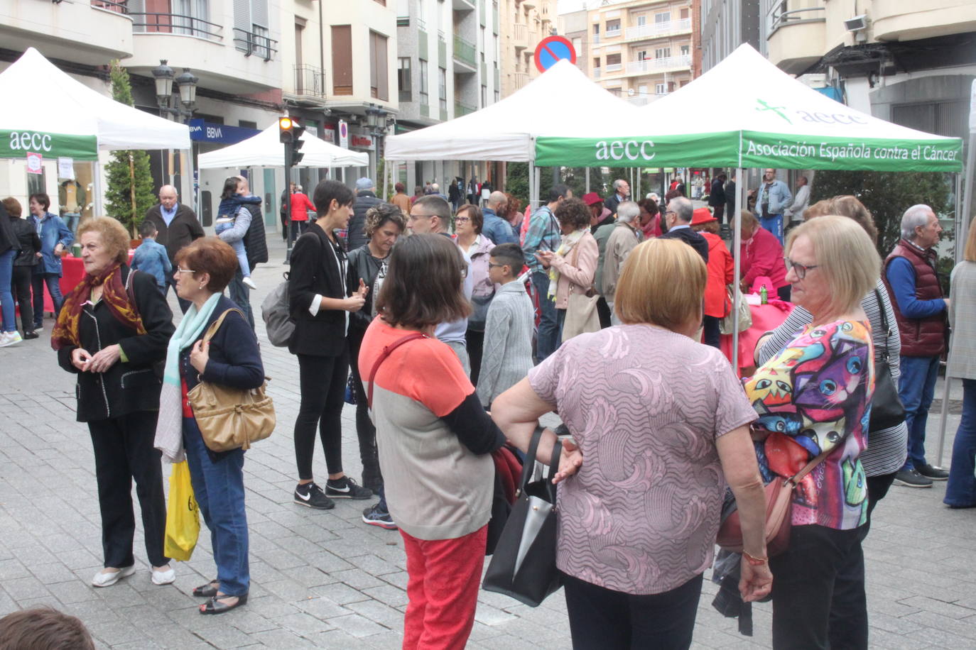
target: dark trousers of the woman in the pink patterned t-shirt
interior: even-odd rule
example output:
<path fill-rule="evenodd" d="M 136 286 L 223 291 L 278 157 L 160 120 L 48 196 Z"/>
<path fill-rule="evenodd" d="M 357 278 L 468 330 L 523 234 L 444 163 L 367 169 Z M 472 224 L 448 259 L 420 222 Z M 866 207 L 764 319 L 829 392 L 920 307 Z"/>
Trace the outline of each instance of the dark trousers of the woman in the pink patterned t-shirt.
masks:
<path fill-rule="evenodd" d="M 633 595 L 563 574 L 573 650 L 691 646 L 702 576 L 670 592 Z"/>

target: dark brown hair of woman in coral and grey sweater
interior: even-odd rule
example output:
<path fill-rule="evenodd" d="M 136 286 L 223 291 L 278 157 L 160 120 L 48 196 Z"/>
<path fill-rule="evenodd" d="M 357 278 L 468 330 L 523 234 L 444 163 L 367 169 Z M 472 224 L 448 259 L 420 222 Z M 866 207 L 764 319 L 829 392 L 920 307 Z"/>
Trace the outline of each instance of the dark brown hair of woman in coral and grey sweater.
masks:
<path fill-rule="evenodd" d="M 468 318 L 461 249 L 440 234 L 411 235 L 389 254 L 376 309 L 389 325 L 423 329 Z"/>

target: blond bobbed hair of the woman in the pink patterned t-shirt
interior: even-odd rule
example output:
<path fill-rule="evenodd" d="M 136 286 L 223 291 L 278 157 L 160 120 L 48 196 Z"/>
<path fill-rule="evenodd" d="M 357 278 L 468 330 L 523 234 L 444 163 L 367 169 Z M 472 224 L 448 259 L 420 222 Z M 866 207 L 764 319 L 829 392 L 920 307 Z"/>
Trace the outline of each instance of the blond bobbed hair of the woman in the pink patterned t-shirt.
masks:
<path fill-rule="evenodd" d="M 648 240 L 631 250 L 624 262 L 614 311 L 627 325 L 649 323 L 676 331 L 701 320 L 708 278 L 701 255 L 684 242 Z"/>

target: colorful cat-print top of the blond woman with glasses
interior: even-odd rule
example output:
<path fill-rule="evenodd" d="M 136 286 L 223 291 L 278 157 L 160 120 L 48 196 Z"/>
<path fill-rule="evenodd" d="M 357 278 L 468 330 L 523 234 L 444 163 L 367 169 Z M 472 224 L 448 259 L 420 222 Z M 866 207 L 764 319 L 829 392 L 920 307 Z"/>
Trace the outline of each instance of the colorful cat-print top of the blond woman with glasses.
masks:
<path fill-rule="evenodd" d="M 753 431 L 763 478 L 792 477 L 834 449 L 793 491 L 793 525 L 847 530 L 867 518 L 868 484 L 858 458 L 868 444 L 874 345 L 866 321 L 807 325 L 746 382 L 759 419 Z"/>

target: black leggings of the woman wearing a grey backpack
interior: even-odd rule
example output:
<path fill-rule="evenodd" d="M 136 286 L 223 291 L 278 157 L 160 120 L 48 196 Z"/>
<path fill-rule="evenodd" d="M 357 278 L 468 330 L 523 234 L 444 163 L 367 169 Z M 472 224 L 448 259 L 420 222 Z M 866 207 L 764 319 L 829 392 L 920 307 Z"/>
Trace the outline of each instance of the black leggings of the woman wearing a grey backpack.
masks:
<path fill-rule="evenodd" d="M 311 460 L 315 454 L 315 426 L 325 451 L 329 474 L 343 473 L 343 397 L 346 392 L 348 356 L 298 355 L 302 401 L 295 419 L 295 460 L 299 478 L 313 478 Z"/>

